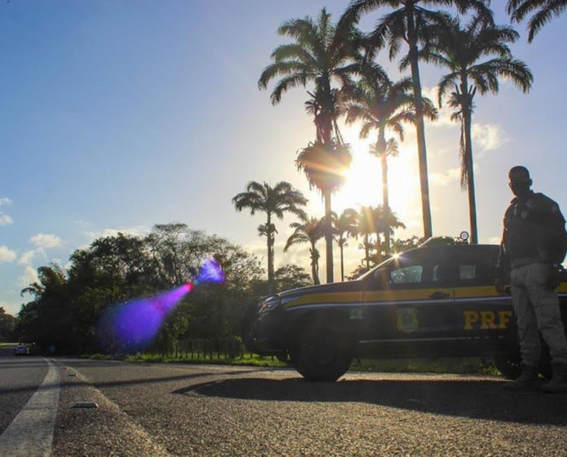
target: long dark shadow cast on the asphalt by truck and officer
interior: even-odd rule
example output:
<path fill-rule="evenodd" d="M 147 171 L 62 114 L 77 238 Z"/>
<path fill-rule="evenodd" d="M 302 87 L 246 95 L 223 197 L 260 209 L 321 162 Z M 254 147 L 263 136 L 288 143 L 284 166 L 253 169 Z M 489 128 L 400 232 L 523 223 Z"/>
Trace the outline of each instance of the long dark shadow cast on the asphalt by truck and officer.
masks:
<path fill-rule="evenodd" d="M 567 394 L 507 392 L 502 381 L 366 380 L 337 383 L 294 379 L 225 379 L 174 394 L 289 402 L 362 402 L 413 411 L 522 422 L 567 425 Z"/>

